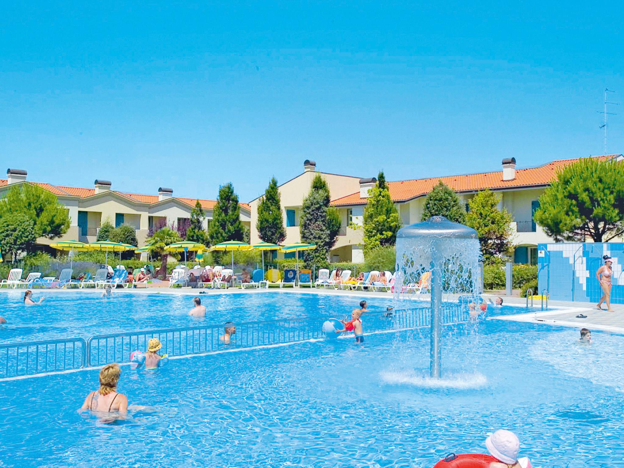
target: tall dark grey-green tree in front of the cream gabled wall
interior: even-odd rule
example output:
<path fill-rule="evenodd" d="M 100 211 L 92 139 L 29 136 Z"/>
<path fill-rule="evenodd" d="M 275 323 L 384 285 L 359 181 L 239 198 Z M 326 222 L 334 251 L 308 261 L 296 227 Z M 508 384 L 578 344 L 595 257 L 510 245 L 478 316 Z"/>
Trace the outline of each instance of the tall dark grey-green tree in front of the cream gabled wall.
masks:
<path fill-rule="evenodd" d="M 301 207 L 301 242 L 316 245 L 316 249 L 304 253 L 303 258 L 308 266 L 328 265 L 329 250 L 336 244 L 340 232 L 338 210 L 330 207 L 329 201 L 327 182 L 317 174 Z"/>

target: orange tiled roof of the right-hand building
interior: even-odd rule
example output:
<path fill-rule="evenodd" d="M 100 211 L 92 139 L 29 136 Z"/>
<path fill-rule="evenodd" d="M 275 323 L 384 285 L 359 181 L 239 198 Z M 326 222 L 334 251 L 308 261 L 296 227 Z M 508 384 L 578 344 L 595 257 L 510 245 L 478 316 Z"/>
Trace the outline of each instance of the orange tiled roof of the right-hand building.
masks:
<path fill-rule="evenodd" d="M 601 159 L 615 157 L 598 156 Z M 446 183 L 456 192 L 476 192 L 490 188 L 492 190 L 513 187 L 535 187 L 540 185 L 548 185 L 555 178 L 555 173 L 570 163 L 577 162 L 579 158 L 562 159 L 549 162 L 539 167 L 528 169 L 516 169 L 514 180 L 503 180 L 502 171 L 482 172 L 478 174 L 451 175 L 447 177 L 430 177 L 415 180 L 399 180 L 398 182 L 388 182 L 388 190 L 390 197 L 394 202 L 405 202 L 412 198 L 423 197 L 431 192 L 431 189 L 439 180 Z M 346 197 L 332 200 L 331 204 L 341 205 L 364 205 L 368 200 L 360 198 L 359 192 L 351 193 Z"/>

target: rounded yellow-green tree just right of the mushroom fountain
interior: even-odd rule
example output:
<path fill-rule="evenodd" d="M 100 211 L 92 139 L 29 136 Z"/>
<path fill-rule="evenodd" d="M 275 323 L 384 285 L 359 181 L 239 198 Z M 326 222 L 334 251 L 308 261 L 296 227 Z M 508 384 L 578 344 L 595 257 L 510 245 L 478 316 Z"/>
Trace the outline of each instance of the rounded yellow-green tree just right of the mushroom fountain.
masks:
<path fill-rule="evenodd" d="M 485 261 L 500 258 L 512 248 L 512 216 L 503 208 L 499 210 L 500 195 L 491 190 L 482 190 L 468 203 L 466 224 L 479 235 L 481 253 Z"/>

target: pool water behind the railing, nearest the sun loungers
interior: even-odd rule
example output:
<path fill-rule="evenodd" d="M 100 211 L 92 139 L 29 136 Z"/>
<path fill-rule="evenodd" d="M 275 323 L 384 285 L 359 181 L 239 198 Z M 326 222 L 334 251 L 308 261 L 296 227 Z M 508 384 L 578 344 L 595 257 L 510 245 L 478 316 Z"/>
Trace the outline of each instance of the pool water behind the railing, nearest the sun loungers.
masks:
<path fill-rule="evenodd" d="M 188 316 L 191 295 L 114 291 L 112 298 L 102 298 L 102 291 L 34 291 L 34 299 L 45 296 L 41 306 L 26 307 L 24 291 L 0 293 L 0 343 L 57 338 L 89 338 L 99 334 L 181 328 L 201 324 L 263 321 L 296 317 L 328 317 L 350 314 L 366 299 L 372 313 L 385 311 L 392 298 L 321 295 L 290 291 L 251 291 L 200 295 L 206 306 L 205 318 Z M 409 301 L 422 306 L 421 301 Z M 490 316 L 500 313 L 527 312 L 526 308 L 490 307 Z"/>

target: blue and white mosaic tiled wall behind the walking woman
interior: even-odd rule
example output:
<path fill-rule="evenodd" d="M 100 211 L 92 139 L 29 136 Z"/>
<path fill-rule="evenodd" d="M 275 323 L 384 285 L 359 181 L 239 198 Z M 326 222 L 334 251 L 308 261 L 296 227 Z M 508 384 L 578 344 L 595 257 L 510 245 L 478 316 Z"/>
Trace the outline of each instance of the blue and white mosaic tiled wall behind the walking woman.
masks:
<path fill-rule="evenodd" d="M 550 243 L 537 245 L 538 289 L 551 300 L 598 303 L 602 296 L 596 271 L 602 256 L 613 257 L 611 301 L 624 304 L 624 243 Z"/>

